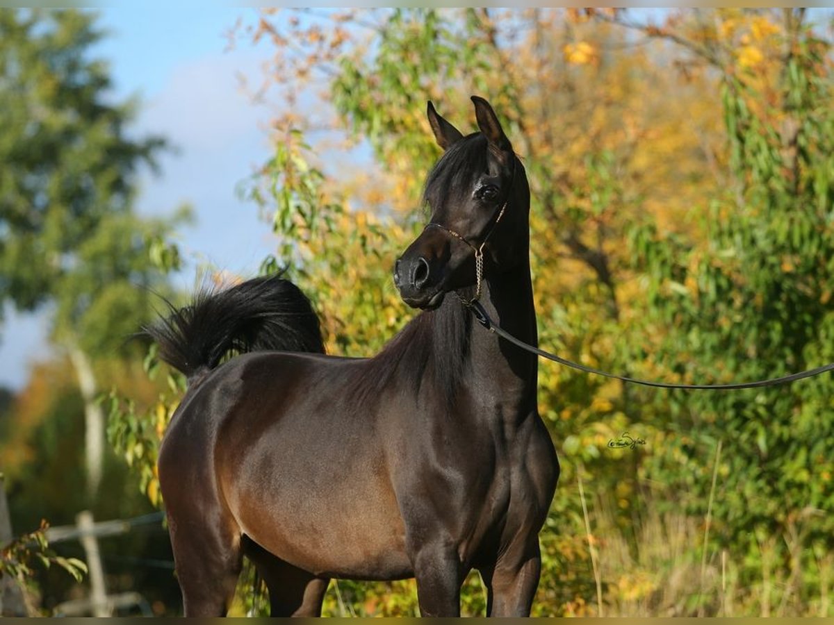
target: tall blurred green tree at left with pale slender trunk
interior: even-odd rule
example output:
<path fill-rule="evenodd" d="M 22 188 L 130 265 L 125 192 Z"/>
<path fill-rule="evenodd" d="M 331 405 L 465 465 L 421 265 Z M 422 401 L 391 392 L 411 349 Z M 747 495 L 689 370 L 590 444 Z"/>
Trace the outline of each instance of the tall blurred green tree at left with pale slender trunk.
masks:
<path fill-rule="evenodd" d="M 133 214 L 138 168 L 164 142 L 129 136 L 136 102 L 112 102 L 108 67 L 91 56 L 101 36 L 91 13 L 0 11 L 0 306 L 56 311 L 53 339 L 84 398 L 91 497 L 104 428 L 94 361 L 148 317 L 135 286 L 162 283 L 147 244 L 171 225 Z"/>

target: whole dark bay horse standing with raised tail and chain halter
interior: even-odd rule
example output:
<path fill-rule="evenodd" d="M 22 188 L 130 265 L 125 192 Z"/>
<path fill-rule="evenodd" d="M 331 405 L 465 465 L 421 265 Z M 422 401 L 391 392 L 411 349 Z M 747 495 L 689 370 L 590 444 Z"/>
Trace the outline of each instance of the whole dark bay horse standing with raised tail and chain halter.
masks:
<path fill-rule="evenodd" d="M 148 328 L 188 376 L 158 461 L 186 615 L 226 612 L 244 554 L 274 616 L 318 615 L 331 577 L 415 577 L 424 616 L 456 616 L 472 568 L 490 616 L 530 613 L 559 475 L 538 364 L 459 301 L 480 296 L 536 344 L 530 188 L 492 107 L 472 100 L 468 136 L 429 103 L 445 150 L 431 222 L 394 269 L 423 312 L 377 356 L 324 355 L 309 301 L 276 277 Z"/>

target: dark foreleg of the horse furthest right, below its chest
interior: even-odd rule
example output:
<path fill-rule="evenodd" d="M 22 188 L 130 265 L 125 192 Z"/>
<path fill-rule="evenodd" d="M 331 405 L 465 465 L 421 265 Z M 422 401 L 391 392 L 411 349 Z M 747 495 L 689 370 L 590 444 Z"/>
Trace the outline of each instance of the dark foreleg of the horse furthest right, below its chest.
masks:
<path fill-rule="evenodd" d="M 490 571 L 489 581 L 485 580 L 487 616 L 529 617 L 540 572 L 538 540 L 517 552 L 510 547 Z"/>

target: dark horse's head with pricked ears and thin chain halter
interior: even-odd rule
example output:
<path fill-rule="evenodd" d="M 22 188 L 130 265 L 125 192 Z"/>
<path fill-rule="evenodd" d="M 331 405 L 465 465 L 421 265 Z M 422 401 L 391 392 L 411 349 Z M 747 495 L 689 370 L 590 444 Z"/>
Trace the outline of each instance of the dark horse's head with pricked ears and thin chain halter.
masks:
<path fill-rule="evenodd" d="M 518 266 L 528 254 L 524 167 L 490 103 L 477 96 L 472 102 L 480 133 L 467 137 L 429 102 L 429 122 L 445 150 L 425 184 L 430 223 L 394 265 L 394 283 L 414 308 L 437 308 L 445 293 L 480 284 L 479 256 L 489 275 Z"/>

